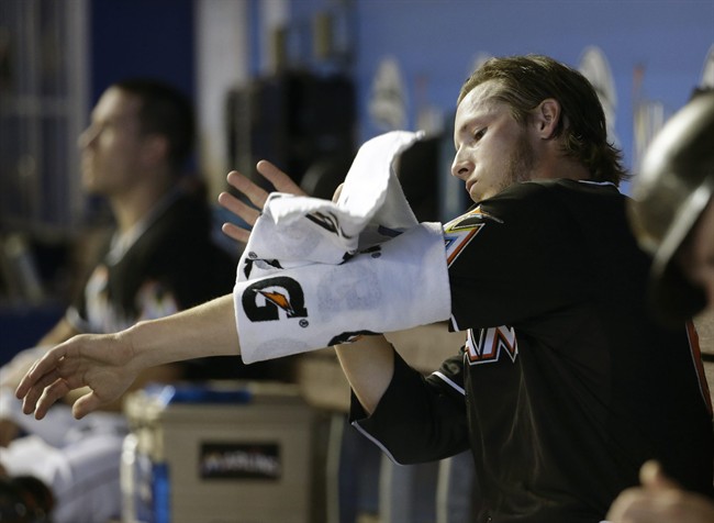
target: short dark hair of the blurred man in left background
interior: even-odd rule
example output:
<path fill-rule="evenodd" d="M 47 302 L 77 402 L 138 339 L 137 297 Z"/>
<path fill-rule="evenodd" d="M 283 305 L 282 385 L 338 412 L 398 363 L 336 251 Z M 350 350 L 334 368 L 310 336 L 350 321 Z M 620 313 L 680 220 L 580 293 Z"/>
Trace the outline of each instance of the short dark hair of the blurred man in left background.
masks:
<path fill-rule="evenodd" d="M 191 101 L 160 80 L 132 78 L 112 85 L 141 101 L 138 120 L 145 134 L 168 141 L 168 160 L 179 171 L 193 152 L 196 122 Z"/>

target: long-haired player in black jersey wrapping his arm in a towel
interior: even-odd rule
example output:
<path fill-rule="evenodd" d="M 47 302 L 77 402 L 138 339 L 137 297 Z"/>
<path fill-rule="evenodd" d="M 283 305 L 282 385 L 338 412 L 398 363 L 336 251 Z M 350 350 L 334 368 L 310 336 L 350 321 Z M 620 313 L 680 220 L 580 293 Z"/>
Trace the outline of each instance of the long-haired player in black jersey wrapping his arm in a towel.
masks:
<path fill-rule="evenodd" d="M 423 378 L 382 335 L 349 336 L 354 343 L 336 350 L 354 391 L 355 426 L 398 463 L 470 449 L 479 523 L 598 523 L 652 458 L 682 486 L 711 497 L 712 410 L 696 336 L 691 323 L 661 324 L 647 307 L 650 259 L 629 231 L 627 198 L 617 190 L 626 175 L 606 142 L 592 86 L 548 57 L 493 58 L 461 89 L 454 142 L 451 174 L 475 205 L 443 227 L 445 255 L 416 267 L 422 253 L 405 232 L 379 252 L 353 254 L 338 270 L 354 277 L 354 267 L 367 266 L 394 283 L 377 289 L 370 310 L 345 312 L 360 318 L 353 333 L 369 331 L 387 313 L 408 316 L 429 307 L 433 296 L 399 300 L 393 289 L 423 285 L 404 275 L 445 274 L 444 318 L 467 333 L 466 344 Z M 260 168 L 290 192 L 275 167 Z M 236 189 L 260 208 L 266 194 L 236 178 Z M 223 203 L 256 221 L 257 211 L 227 197 Z M 250 260 L 256 264 L 285 270 L 292 289 L 303 282 L 300 267 Z M 336 281 L 337 269 L 330 271 Z M 270 318 L 266 337 L 290 322 L 310 335 L 310 314 L 321 304 L 304 290 L 300 318 Z M 222 297 L 53 348 L 18 389 L 24 412 L 42 419 L 68 390 L 89 386 L 74 407 L 82 416 L 147 366 L 245 350 L 245 323 L 236 325 L 236 313 L 255 305 L 244 298 Z M 335 329 L 345 318 L 335 319 Z M 304 349 L 320 346 L 303 342 Z"/>

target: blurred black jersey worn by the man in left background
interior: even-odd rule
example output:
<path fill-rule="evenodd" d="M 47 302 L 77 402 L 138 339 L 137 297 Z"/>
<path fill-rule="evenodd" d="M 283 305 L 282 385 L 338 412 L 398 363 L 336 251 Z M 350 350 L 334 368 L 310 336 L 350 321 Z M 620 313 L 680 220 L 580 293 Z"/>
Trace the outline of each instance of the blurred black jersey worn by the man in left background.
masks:
<path fill-rule="evenodd" d="M 231 292 L 235 264 L 213 244 L 210 227 L 202 200 L 167 196 L 107 245 L 72 304 L 72 323 L 83 332 L 116 332 Z"/>

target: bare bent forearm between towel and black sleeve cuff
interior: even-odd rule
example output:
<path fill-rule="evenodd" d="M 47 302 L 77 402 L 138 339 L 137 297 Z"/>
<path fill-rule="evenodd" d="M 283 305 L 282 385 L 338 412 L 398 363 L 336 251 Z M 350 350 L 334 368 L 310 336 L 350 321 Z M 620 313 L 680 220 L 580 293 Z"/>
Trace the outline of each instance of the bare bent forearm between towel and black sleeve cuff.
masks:
<path fill-rule="evenodd" d="M 364 409 L 372 413 L 394 372 L 394 352 L 384 336 L 335 346 L 339 365 Z"/>

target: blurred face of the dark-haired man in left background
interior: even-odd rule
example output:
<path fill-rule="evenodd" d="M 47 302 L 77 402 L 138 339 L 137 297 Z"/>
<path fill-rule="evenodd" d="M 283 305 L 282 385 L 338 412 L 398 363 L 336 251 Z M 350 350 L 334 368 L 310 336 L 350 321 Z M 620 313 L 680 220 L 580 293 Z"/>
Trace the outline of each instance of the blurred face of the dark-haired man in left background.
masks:
<path fill-rule="evenodd" d="M 89 192 L 116 196 L 133 187 L 138 169 L 142 134 L 140 100 L 109 88 L 91 113 L 91 124 L 79 136 L 82 183 Z"/>

